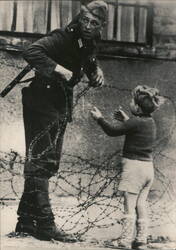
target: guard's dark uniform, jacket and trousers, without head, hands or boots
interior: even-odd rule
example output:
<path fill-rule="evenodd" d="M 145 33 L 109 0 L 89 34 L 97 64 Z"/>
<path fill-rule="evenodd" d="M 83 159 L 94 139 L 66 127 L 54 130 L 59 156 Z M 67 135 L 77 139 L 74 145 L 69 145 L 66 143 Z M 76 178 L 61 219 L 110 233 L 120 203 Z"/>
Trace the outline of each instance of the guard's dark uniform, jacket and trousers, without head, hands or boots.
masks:
<path fill-rule="evenodd" d="M 95 40 L 84 44 L 76 24 L 51 32 L 24 52 L 24 59 L 36 69 L 36 75 L 22 90 L 27 160 L 18 215 L 23 219 L 29 219 L 29 215 L 37 220 L 54 219 L 48 179 L 59 168 L 63 135 L 71 121 L 73 86 L 82 72 L 90 77 L 96 71 L 95 52 Z M 69 83 L 54 72 L 57 64 L 73 72 Z"/>

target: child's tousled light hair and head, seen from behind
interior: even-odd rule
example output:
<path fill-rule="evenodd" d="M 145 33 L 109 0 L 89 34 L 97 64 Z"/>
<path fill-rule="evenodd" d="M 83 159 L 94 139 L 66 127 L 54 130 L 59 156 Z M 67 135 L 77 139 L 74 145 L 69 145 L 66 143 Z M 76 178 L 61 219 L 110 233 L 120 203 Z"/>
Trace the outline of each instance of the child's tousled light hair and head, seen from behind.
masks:
<path fill-rule="evenodd" d="M 144 114 L 151 114 L 159 107 L 159 91 L 146 85 L 138 85 L 132 91 L 135 104 L 138 104 Z"/>

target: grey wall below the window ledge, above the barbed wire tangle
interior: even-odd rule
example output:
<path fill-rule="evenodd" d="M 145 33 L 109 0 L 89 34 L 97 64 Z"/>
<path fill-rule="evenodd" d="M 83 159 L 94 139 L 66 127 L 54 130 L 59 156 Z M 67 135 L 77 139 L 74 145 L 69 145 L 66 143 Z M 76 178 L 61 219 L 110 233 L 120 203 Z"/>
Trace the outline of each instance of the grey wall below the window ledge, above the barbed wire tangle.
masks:
<path fill-rule="evenodd" d="M 0 57 L 2 89 L 17 75 L 25 62 L 19 55 L 7 52 L 1 52 Z M 156 150 L 157 152 L 162 150 L 166 157 L 171 157 L 175 161 L 176 63 L 119 59 L 101 60 L 101 65 L 105 73 L 106 85 L 110 87 L 99 90 L 91 89 L 85 97 L 80 99 L 74 109 L 73 123 L 69 124 L 67 128 L 64 150 L 85 159 L 100 157 L 100 162 L 112 152 L 120 150 L 123 138 L 109 138 L 104 135 L 91 118 L 90 110 L 95 105 L 101 109 L 105 117 L 112 120 L 113 110 L 119 105 L 122 105 L 128 112 L 131 90 L 137 84 L 148 84 L 158 87 L 161 94 L 166 96 L 165 104 L 154 115 L 158 125 L 159 140 Z M 1 150 L 8 151 L 12 148 L 20 154 L 24 154 L 20 93 L 23 86 L 15 87 L 5 98 L 0 100 Z M 170 164 L 169 160 L 168 164 Z M 169 166 L 174 170 L 175 162 L 172 165 Z M 168 170 L 165 165 L 160 167 L 164 171 Z"/>

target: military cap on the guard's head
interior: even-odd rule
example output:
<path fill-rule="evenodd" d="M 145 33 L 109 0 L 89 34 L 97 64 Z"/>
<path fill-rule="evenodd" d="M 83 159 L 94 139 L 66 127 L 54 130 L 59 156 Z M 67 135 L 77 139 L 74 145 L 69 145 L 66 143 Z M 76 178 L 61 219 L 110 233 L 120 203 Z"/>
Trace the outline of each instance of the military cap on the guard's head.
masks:
<path fill-rule="evenodd" d="M 107 18 L 108 5 L 102 0 L 95 0 L 83 5 L 81 11 L 89 11 L 93 16 L 105 21 Z"/>

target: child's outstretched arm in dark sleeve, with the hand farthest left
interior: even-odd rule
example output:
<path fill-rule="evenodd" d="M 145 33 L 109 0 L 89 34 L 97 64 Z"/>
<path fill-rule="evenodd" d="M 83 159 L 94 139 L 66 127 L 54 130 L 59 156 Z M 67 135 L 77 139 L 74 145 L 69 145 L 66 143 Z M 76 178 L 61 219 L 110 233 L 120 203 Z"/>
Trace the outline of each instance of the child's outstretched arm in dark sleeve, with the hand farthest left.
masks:
<path fill-rule="evenodd" d="M 101 126 L 103 131 L 109 136 L 121 136 L 126 135 L 132 129 L 135 128 L 134 123 L 131 123 L 128 119 L 127 122 L 123 122 L 119 126 L 113 126 L 109 124 L 101 114 L 100 110 L 94 107 L 91 111 L 93 118 L 97 121 L 97 123 Z"/>

